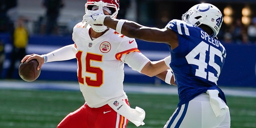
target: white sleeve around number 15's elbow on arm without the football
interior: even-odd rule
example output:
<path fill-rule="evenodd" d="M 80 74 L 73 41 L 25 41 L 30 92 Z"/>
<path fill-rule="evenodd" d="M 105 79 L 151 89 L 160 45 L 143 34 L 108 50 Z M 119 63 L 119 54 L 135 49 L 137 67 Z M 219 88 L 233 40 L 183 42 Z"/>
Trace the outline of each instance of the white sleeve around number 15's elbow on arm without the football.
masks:
<path fill-rule="evenodd" d="M 132 70 L 140 72 L 150 60 L 140 52 L 132 52 L 122 55 L 121 60 L 128 64 Z"/>

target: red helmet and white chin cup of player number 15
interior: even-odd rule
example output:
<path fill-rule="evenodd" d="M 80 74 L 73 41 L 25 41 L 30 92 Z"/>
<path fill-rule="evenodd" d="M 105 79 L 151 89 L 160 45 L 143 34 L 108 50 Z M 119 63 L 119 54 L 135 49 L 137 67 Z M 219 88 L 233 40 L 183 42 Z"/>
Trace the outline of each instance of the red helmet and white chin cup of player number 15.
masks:
<path fill-rule="evenodd" d="M 85 4 L 85 13 L 88 10 L 92 10 L 93 6 L 98 6 L 98 2 L 102 1 L 103 2 L 103 7 L 107 7 L 111 11 L 111 16 L 110 18 L 116 18 L 119 10 L 119 0 L 88 0 Z M 92 26 L 92 29 L 95 32 L 104 32 L 107 29 L 107 26 L 99 26 L 99 25 L 94 25 L 90 24 Z"/>

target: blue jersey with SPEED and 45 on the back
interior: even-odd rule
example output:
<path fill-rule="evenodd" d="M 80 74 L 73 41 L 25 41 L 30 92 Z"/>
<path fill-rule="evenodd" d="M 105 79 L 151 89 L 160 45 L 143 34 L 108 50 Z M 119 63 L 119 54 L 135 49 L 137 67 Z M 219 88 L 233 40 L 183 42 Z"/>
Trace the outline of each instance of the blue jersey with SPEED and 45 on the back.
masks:
<path fill-rule="evenodd" d="M 173 50 L 168 45 L 172 57 L 170 67 L 178 86 L 178 106 L 212 89 L 219 90 L 220 98 L 226 102 L 224 93 L 217 86 L 226 57 L 220 41 L 182 20 L 172 20 L 166 28 L 176 32 L 179 41 L 179 46 Z"/>

